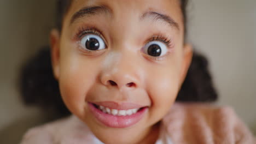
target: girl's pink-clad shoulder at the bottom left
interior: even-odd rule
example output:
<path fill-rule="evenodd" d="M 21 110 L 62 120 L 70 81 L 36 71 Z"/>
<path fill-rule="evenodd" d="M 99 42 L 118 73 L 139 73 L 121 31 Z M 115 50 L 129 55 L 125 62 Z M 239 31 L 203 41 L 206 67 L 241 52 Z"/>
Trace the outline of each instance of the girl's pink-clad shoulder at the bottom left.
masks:
<path fill-rule="evenodd" d="M 24 135 L 21 144 L 94 143 L 98 140 L 85 123 L 74 115 L 32 128 Z"/>

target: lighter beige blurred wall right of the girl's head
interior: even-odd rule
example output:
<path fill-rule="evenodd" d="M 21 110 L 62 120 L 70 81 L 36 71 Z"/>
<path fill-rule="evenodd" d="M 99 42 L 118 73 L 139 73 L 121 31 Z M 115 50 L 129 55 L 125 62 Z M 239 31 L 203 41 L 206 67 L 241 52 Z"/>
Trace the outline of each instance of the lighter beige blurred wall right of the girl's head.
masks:
<path fill-rule="evenodd" d="M 189 10 L 189 39 L 210 59 L 219 103 L 256 129 L 256 1 L 193 0 Z"/>

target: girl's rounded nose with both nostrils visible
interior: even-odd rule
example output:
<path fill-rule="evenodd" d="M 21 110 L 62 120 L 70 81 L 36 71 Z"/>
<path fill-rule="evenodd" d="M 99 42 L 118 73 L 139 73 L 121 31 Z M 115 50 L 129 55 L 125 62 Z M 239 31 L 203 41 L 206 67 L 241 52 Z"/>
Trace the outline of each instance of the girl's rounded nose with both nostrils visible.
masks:
<path fill-rule="evenodd" d="M 112 57 L 113 58 L 113 57 Z M 102 70 L 101 83 L 106 87 L 137 88 L 141 85 L 141 76 L 135 60 L 120 57 L 108 63 Z"/>

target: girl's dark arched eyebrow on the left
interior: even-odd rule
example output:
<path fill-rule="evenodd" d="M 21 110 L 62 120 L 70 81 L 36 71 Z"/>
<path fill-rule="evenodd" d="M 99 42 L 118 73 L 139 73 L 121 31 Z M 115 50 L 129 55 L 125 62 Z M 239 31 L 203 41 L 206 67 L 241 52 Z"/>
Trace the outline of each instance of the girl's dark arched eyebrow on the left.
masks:
<path fill-rule="evenodd" d="M 79 11 L 77 11 L 77 13 L 75 13 L 70 21 L 70 24 L 72 24 L 75 20 L 81 18 L 81 17 L 85 17 L 85 16 L 94 16 L 97 14 L 101 14 L 101 13 L 110 13 L 110 9 L 105 6 L 105 5 L 100 5 L 100 6 L 95 6 L 95 7 L 84 7 L 82 9 L 80 9 Z"/>

